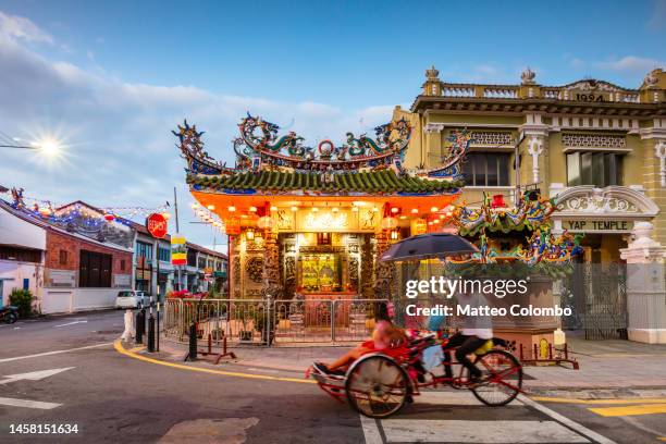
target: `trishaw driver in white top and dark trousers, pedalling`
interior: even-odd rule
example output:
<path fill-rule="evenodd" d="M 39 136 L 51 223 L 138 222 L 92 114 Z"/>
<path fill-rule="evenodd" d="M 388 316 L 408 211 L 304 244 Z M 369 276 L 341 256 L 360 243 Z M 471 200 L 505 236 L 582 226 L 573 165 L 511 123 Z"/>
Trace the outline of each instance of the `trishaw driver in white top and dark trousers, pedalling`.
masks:
<path fill-rule="evenodd" d="M 481 293 L 458 294 L 458 305 L 480 308 L 488 305 Z M 451 349 L 456 348 L 456 359 L 469 370 L 470 380 L 479 381 L 481 370 L 467 357 L 483 347 L 493 338 L 493 328 L 490 316 L 466 316 L 462 329 L 448 338 L 444 346 L 444 372 L 447 379 L 453 378 L 451 369 Z"/>

